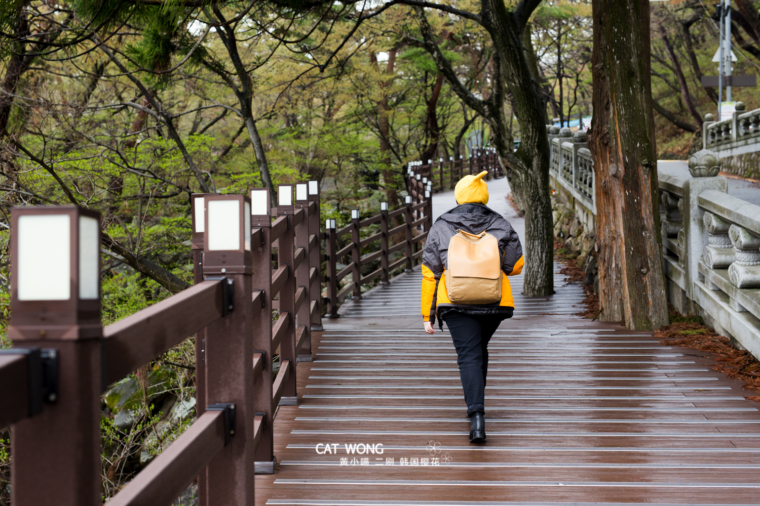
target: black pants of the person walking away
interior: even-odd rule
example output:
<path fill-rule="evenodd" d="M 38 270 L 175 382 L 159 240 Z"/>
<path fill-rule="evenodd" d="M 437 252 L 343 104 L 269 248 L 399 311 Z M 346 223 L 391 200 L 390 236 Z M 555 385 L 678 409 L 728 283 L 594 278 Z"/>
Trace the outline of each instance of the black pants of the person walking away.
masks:
<path fill-rule="evenodd" d="M 467 403 L 467 416 L 485 413 L 486 372 L 488 372 L 488 341 L 496 332 L 504 316 L 467 315 L 451 311 L 446 322 L 451 340 L 457 349 L 459 376 Z"/>

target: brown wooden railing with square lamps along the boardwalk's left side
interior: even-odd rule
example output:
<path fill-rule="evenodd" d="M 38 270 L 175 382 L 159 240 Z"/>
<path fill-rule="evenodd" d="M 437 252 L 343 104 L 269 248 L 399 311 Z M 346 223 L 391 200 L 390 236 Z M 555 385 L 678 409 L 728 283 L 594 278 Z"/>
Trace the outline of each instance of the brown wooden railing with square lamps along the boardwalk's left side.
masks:
<path fill-rule="evenodd" d="M 102 392 L 190 335 L 197 418 L 109 504 L 165 506 L 196 477 L 198 504 L 255 504 L 254 474 L 276 468 L 274 412 L 297 404 L 297 363 L 311 360 L 311 332 L 321 330 L 321 281 L 336 317 L 341 296 L 387 282 L 398 266 L 411 269 L 429 224 L 423 200 L 363 220 L 356 212 L 347 227 L 322 234 L 316 181 L 294 186 L 295 198 L 293 185 L 280 185 L 274 208 L 265 189 L 193 195 L 195 285 L 105 328 L 97 212 L 12 209 L 8 335 L 17 348 L 0 354 L 0 426 L 12 424 L 14 506 L 100 504 Z M 372 244 L 380 250 L 362 255 Z M 403 256 L 391 261 L 396 251 Z M 336 272 L 337 259 L 349 255 Z M 337 291 L 349 274 L 353 281 Z"/>

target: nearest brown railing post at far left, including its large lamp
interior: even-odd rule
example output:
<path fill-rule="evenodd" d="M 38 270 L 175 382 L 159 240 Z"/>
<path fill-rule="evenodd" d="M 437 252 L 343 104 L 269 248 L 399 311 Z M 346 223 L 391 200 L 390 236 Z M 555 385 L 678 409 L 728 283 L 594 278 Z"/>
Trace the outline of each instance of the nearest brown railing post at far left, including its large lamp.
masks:
<path fill-rule="evenodd" d="M 11 426 L 14 506 L 100 504 L 102 335 L 100 214 L 12 208 L 8 338 L 55 348 L 59 360 L 55 404 Z"/>

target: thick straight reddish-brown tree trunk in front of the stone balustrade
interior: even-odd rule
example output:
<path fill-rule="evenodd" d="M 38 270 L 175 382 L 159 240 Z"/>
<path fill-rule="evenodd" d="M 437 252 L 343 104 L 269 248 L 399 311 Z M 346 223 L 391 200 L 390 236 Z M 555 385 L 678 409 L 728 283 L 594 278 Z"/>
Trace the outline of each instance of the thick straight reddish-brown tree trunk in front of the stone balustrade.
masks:
<path fill-rule="evenodd" d="M 593 0 L 594 118 L 600 319 L 667 325 L 659 244 L 650 83 L 649 2 Z M 633 29 L 632 29 L 633 28 Z"/>

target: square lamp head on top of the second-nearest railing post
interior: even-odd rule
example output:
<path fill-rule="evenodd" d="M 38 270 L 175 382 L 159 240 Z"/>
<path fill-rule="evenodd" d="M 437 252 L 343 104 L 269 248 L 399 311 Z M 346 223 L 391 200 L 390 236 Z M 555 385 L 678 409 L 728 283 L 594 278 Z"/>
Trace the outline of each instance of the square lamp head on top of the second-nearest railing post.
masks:
<path fill-rule="evenodd" d="M 203 275 L 251 274 L 251 200 L 243 195 L 206 197 Z"/>

